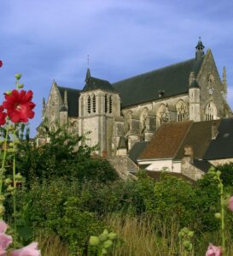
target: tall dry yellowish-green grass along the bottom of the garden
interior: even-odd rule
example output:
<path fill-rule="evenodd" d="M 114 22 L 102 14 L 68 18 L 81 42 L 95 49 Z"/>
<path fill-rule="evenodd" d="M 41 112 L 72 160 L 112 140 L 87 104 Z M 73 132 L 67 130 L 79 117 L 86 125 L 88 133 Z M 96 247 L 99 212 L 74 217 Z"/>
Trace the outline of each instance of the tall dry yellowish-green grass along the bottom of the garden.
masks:
<path fill-rule="evenodd" d="M 114 256 L 201 256 L 205 255 L 209 242 L 219 245 L 218 232 L 204 233 L 196 237 L 194 252 L 185 254 L 178 240 L 181 227 L 176 221 L 161 223 L 156 220 L 151 223 L 149 217 L 108 216 L 106 219 L 111 231 L 119 236 L 119 242 L 114 247 Z M 43 256 L 69 256 L 67 247 L 55 234 L 46 235 L 43 230 L 38 232 L 36 241 Z M 226 234 L 226 251 L 224 256 L 233 255 L 232 237 Z M 93 255 L 89 255 L 93 256 Z"/>

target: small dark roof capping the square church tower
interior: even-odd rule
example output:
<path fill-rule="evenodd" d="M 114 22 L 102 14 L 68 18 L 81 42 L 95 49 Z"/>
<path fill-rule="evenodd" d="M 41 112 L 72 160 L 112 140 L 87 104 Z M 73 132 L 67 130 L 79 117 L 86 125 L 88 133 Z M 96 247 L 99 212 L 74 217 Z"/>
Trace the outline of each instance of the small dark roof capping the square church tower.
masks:
<path fill-rule="evenodd" d="M 114 87 L 109 83 L 108 80 L 98 79 L 96 77 L 90 77 L 86 80 L 83 92 L 101 89 L 103 91 L 115 92 Z"/>

